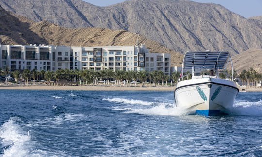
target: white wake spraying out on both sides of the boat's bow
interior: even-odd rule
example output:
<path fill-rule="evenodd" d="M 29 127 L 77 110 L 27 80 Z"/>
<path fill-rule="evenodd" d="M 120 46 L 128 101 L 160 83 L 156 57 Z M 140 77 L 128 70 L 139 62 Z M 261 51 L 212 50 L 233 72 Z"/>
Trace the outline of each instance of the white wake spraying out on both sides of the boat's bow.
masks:
<path fill-rule="evenodd" d="M 124 113 L 138 113 L 161 116 L 183 116 L 194 114 L 194 110 L 177 107 L 166 102 L 148 102 L 143 100 L 124 98 L 104 98 L 109 102 L 117 102 L 118 106 L 110 107 L 112 110 L 122 110 Z M 236 101 L 229 109 L 230 115 L 262 116 L 262 100 L 257 102 Z"/>

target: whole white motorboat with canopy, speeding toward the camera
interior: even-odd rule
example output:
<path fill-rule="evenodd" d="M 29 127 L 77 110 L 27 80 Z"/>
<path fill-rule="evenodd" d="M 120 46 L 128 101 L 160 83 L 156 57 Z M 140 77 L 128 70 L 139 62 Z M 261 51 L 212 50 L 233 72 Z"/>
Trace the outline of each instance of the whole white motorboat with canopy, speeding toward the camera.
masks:
<path fill-rule="evenodd" d="M 227 71 L 229 63 L 230 77 L 222 73 Z M 192 114 L 228 114 L 239 92 L 233 72 L 229 52 L 186 52 L 174 91 L 176 105 L 191 110 Z"/>

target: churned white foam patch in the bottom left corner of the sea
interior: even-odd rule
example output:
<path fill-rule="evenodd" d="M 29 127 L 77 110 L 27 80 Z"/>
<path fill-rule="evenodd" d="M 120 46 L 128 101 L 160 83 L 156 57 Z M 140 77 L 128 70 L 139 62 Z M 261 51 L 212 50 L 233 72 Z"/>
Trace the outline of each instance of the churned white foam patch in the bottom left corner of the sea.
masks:
<path fill-rule="evenodd" d="M 5 147 L 4 157 L 23 157 L 27 156 L 30 152 L 25 146 L 29 144 L 30 133 L 22 131 L 14 120 L 16 118 L 10 118 L 0 127 L 1 144 Z"/>

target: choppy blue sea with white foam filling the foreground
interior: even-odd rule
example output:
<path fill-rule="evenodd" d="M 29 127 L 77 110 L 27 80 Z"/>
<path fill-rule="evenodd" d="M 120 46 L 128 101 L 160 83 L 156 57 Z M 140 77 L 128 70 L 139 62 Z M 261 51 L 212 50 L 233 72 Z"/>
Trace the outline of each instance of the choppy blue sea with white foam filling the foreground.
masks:
<path fill-rule="evenodd" d="M 262 156 L 262 92 L 231 114 L 188 115 L 173 92 L 0 90 L 6 157 Z"/>

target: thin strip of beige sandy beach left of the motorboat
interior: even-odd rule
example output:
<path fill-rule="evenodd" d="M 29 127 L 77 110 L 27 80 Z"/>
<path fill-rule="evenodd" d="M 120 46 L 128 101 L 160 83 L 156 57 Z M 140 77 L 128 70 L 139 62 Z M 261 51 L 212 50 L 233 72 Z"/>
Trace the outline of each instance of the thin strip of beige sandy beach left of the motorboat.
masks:
<path fill-rule="evenodd" d="M 175 87 L 118 87 L 118 86 L 0 86 L 0 90 L 86 90 L 86 91 L 174 91 Z"/>

